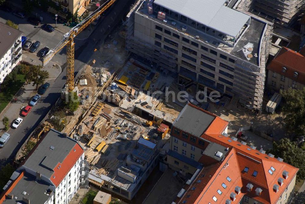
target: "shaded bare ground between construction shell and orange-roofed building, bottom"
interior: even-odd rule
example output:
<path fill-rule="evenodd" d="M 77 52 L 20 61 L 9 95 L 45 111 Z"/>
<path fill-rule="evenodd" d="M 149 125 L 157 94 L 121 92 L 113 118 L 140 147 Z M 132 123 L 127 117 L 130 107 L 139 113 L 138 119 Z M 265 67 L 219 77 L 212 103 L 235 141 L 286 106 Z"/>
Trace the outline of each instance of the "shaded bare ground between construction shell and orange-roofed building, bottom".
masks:
<path fill-rule="evenodd" d="M 143 204 L 171 203 L 182 188 L 182 183 L 173 176 L 174 171 L 167 169 Z"/>

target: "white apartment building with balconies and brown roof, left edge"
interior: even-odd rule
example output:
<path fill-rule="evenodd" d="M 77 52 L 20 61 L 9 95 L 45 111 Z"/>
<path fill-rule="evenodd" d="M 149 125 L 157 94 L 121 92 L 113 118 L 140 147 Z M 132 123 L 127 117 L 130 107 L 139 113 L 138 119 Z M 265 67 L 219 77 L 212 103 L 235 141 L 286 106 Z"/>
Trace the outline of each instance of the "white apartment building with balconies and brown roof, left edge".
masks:
<path fill-rule="evenodd" d="M 21 34 L 0 22 L 0 84 L 22 59 Z"/>

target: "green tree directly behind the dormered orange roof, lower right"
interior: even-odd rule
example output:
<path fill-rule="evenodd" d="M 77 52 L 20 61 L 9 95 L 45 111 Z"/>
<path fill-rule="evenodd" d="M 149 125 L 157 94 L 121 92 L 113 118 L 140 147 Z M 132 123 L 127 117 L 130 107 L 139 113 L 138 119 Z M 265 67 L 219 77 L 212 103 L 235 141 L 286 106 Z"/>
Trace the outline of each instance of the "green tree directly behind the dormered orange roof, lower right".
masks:
<path fill-rule="evenodd" d="M 273 148 L 268 150 L 267 153 L 280 157 L 285 162 L 299 168 L 296 175 L 297 180 L 305 179 L 305 151 L 299 148 L 296 142 L 283 138 L 278 142 L 273 142 Z"/>

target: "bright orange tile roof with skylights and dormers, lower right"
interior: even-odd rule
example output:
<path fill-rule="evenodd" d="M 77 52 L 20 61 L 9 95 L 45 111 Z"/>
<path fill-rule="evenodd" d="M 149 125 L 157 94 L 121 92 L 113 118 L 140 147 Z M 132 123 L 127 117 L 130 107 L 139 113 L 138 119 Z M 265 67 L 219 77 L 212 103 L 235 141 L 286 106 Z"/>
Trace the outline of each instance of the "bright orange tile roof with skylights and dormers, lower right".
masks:
<path fill-rule="evenodd" d="M 204 111 L 203 109 L 199 109 Z M 217 116 L 217 118 L 219 118 Z M 200 158 L 204 168 L 192 182 L 185 187 L 185 194 L 180 199 L 176 199 L 176 203 L 182 203 L 187 200 L 187 203 L 214 203 L 213 196 L 217 198 L 217 203 L 225 203 L 226 199 L 230 199 L 230 194 L 234 193 L 236 186 L 241 187 L 241 193 L 236 195 L 234 203 L 238 203 L 243 195 L 247 195 L 262 203 L 276 203 L 282 192 L 290 184 L 298 169 L 285 162 L 280 162 L 272 156 L 261 153 L 260 151 L 250 148 L 248 145 L 243 145 L 232 138 L 220 135 L 223 132 L 223 127 L 227 124 L 221 118 L 217 119 L 217 126 L 211 126 L 201 136 L 206 140 L 221 144 L 229 148 L 229 152 L 223 161 L 214 162 L 206 158 Z M 206 163 L 204 161 L 207 161 Z M 272 175 L 268 172 L 271 166 L 275 169 Z M 245 167 L 248 167 L 248 172 L 245 172 Z M 278 192 L 273 191 L 273 185 L 278 184 L 278 178 L 283 178 L 283 171 L 289 172 L 287 180 L 284 179 L 284 184 L 279 187 Z M 253 176 L 253 172 L 257 171 L 257 176 Z M 201 175 L 204 175 L 202 177 Z M 230 177 L 229 182 L 226 178 Z M 197 183 L 201 180 L 200 183 Z M 227 188 L 223 188 L 221 184 L 226 184 Z M 252 191 L 247 191 L 246 185 L 252 184 Z M 195 189 L 193 188 L 195 187 Z M 256 188 L 261 188 L 260 195 L 256 195 Z M 193 189 L 193 190 L 192 190 Z M 221 190 L 221 195 L 217 190 Z"/>

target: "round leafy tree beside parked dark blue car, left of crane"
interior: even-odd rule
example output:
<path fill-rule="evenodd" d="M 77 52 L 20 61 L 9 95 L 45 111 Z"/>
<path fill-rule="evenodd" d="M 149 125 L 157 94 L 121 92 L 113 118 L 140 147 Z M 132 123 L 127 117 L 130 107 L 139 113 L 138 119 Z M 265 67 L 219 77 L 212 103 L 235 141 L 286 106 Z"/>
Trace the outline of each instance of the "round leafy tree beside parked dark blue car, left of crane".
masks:
<path fill-rule="evenodd" d="M 36 90 L 38 89 L 38 86 L 49 77 L 49 73 L 47 71 L 42 71 L 41 68 L 41 65 L 32 65 L 30 66 L 30 71 L 25 75 L 27 83 L 33 82 L 33 86 L 36 86 Z"/>

